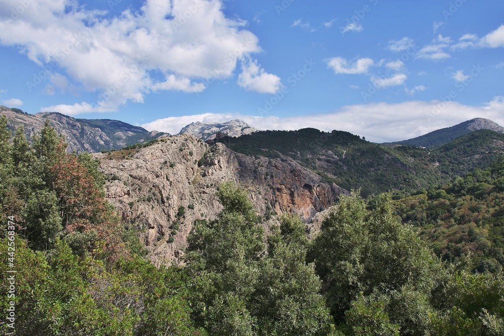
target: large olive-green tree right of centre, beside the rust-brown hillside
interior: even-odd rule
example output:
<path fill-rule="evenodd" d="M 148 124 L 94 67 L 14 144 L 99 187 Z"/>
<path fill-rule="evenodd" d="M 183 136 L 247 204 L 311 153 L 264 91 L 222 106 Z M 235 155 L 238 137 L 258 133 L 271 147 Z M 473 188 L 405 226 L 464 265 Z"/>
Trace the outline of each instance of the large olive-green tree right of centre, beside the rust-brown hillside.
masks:
<path fill-rule="evenodd" d="M 440 266 L 416 233 L 393 217 L 390 195 L 368 211 L 358 192 L 342 196 L 323 222 L 310 259 L 338 322 L 359 293 L 388 293 L 406 284 L 428 293 Z"/>

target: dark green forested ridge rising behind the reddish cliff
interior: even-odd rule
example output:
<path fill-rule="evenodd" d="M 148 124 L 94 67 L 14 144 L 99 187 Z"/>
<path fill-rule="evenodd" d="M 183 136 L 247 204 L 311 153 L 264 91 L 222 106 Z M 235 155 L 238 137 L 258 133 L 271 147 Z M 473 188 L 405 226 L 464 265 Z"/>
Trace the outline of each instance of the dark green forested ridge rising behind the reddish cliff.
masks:
<path fill-rule="evenodd" d="M 363 196 L 416 190 L 484 168 L 504 154 L 504 134 L 476 130 L 433 150 L 382 146 L 344 131 L 258 131 L 217 141 L 245 155 L 289 157 L 327 181 Z"/>

